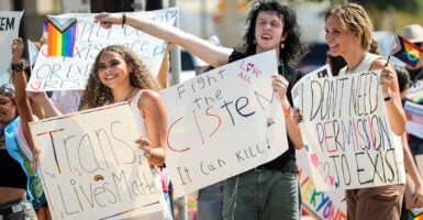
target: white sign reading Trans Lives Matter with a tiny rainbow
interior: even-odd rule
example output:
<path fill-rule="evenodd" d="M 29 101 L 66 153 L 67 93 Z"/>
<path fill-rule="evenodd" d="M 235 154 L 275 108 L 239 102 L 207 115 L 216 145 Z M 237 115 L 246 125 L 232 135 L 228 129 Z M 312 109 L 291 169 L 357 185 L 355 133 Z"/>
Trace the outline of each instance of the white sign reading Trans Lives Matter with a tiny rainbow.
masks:
<path fill-rule="evenodd" d="M 122 219 L 163 210 L 163 191 L 135 144 L 127 103 L 30 124 L 53 219 Z"/>

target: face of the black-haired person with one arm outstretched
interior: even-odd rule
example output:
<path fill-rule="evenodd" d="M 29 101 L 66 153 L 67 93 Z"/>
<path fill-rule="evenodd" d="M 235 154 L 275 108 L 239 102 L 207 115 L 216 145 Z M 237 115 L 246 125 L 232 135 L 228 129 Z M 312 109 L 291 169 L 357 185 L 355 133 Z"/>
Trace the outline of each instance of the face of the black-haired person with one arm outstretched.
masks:
<path fill-rule="evenodd" d="M 283 22 L 275 11 L 261 11 L 257 15 L 255 38 L 256 53 L 276 48 L 279 52 L 280 43 L 285 40 Z"/>

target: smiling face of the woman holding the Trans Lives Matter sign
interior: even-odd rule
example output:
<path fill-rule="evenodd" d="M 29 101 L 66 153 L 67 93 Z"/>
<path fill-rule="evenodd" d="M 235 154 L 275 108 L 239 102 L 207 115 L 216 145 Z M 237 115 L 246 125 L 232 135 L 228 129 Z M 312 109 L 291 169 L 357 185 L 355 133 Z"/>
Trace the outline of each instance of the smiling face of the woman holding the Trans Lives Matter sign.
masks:
<path fill-rule="evenodd" d="M 104 51 L 99 57 L 100 81 L 111 89 L 130 85 L 131 72 L 131 67 L 116 52 Z"/>

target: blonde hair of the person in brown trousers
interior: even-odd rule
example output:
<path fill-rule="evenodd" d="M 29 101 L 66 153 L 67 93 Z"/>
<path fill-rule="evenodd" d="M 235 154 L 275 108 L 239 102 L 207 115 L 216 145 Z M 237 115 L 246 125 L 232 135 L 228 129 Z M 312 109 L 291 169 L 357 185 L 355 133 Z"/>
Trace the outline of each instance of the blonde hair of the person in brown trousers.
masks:
<path fill-rule="evenodd" d="M 334 15 L 344 31 L 357 33 L 360 36 L 360 46 L 370 53 L 380 54 L 378 42 L 372 38 L 374 25 L 366 10 L 357 3 L 343 3 L 331 8 L 324 20 Z"/>

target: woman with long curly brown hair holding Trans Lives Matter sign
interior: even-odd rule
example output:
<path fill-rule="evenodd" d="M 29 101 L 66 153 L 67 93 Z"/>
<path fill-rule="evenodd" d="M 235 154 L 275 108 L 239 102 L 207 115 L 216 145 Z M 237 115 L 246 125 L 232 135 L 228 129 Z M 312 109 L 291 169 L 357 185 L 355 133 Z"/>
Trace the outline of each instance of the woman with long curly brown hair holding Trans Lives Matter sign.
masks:
<path fill-rule="evenodd" d="M 167 113 L 156 79 L 137 55 L 122 45 L 110 45 L 100 51 L 91 68 L 79 110 L 126 101 L 141 131 L 136 142 L 144 151 L 159 189 L 163 188 L 166 215 L 153 213 L 143 219 L 171 219 L 166 179 L 160 172 L 166 157 Z M 155 168 L 155 167 L 160 167 Z M 159 217 L 157 216 L 159 215 Z"/>

